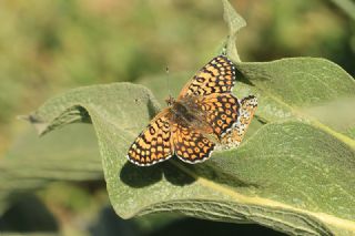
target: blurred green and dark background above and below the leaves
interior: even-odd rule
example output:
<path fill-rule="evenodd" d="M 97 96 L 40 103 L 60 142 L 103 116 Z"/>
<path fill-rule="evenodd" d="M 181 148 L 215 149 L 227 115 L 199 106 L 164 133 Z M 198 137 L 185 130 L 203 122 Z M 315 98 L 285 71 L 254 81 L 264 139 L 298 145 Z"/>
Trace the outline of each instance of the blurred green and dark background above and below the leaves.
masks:
<path fill-rule="evenodd" d="M 355 75 L 354 1 L 231 3 L 247 22 L 237 38 L 243 61 L 321 57 Z M 21 148 L 17 143 L 28 132 L 16 117 L 53 94 L 98 83 L 140 83 L 164 74 L 166 66 L 172 74 L 194 72 L 219 52 L 226 33 L 220 1 L 0 1 L 0 162 Z M 0 234 L 192 235 L 201 227 L 206 235 L 282 235 L 175 215 L 122 220 L 110 208 L 102 179 L 51 183 L 16 201 L 0 218 Z"/>

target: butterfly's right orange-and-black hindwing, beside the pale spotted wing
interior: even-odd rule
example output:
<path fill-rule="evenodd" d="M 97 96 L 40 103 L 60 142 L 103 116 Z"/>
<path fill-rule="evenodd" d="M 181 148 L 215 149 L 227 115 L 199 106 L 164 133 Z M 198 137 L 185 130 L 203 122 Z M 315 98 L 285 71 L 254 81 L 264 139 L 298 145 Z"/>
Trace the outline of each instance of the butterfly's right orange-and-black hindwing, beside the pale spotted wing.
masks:
<path fill-rule="evenodd" d="M 217 138 L 236 125 L 240 104 L 231 93 L 203 96 L 197 100 L 197 104 Z"/>

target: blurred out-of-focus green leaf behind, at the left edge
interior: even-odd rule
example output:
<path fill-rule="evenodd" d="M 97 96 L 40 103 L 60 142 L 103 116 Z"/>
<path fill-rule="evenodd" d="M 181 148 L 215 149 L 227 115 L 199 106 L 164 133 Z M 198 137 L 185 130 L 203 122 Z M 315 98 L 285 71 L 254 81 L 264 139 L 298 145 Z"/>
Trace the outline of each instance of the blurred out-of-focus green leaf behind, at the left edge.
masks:
<path fill-rule="evenodd" d="M 102 178 L 98 141 L 91 125 L 68 125 L 43 137 L 38 137 L 33 130 L 27 131 L 0 162 L 0 213 L 13 197 L 53 181 Z"/>

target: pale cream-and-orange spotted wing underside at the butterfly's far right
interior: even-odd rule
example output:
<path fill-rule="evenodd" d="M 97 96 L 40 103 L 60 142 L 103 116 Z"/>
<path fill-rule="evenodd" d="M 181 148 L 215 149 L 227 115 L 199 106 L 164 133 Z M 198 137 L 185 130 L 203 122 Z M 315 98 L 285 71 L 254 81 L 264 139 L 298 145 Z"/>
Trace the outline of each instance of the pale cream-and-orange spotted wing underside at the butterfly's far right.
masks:
<path fill-rule="evenodd" d="M 250 95 L 242 99 L 240 104 L 240 115 L 234 127 L 221 140 L 222 148 L 231 148 L 240 145 L 256 111 L 257 99 Z"/>

